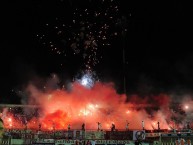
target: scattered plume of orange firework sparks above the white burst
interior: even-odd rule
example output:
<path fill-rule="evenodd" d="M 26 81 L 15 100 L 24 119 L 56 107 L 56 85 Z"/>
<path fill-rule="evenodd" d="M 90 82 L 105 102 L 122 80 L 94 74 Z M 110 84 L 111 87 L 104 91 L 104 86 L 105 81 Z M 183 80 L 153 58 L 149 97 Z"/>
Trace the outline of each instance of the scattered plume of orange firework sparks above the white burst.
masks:
<path fill-rule="evenodd" d="M 83 59 L 83 70 L 92 71 L 102 58 L 100 49 L 110 46 L 120 35 L 119 6 L 114 1 L 98 1 L 100 7 L 76 8 L 70 22 L 57 17 L 56 24 L 46 24 L 39 41 L 56 54 L 66 57 L 69 48 Z"/>

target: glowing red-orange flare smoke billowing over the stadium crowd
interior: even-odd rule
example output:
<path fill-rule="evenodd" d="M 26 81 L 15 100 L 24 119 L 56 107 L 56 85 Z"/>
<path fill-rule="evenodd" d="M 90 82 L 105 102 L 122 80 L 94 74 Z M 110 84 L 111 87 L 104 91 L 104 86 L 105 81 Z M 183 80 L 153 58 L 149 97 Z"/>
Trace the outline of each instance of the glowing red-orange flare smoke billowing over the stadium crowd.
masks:
<path fill-rule="evenodd" d="M 38 114 L 33 109 L 26 108 L 23 115 L 8 113 L 4 117 L 7 128 L 24 128 L 25 117 L 29 128 L 52 130 L 67 129 L 71 124 L 72 129 L 81 129 L 82 123 L 86 123 L 86 129 L 97 129 L 97 122 L 102 123 L 102 129 L 110 129 L 115 123 L 117 129 L 125 129 L 126 120 L 130 129 L 142 129 L 141 121 L 144 120 L 145 128 L 157 128 L 160 122 L 161 129 L 168 129 L 174 126 L 177 117 L 181 124 L 185 124 L 192 117 L 192 99 L 183 100 L 184 105 L 189 105 L 186 114 L 174 112 L 171 107 L 172 97 L 166 94 L 140 97 L 138 95 L 118 94 L 113 83 L 95 82 L 89 89 L 74 81 L 71 89 L 60 88 L 57 76 L 47 81 L 47 84 L 40 89 L 30 83 L 25 92 L 28 94 L 29 105 L 38 105 Z M 28 111 L 27 111 L 28 110 Z M 19 114 L 21 112 L 18 112 Z M 29 114 L 31 113 L 31 114 Z M 190 116 L 187 116 L 190 115 Z M 8 121 L 11 118 L 12 122 Z M 180 127 L 180 126 L 179 126 Z"/>

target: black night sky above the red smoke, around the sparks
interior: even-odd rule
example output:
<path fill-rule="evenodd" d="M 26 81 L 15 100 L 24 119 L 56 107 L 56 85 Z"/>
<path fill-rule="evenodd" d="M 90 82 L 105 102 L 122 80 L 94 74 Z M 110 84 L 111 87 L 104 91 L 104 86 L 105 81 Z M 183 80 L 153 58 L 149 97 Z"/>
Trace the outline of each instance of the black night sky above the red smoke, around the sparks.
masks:
<path fill-rule="evenodd" d="M 91 58 L 92 72 L 101 82 L 115 83 L 119 93 L 124 92 L 125 76 L 127 94 L 192 94 L 191 1 L 33 0 L 9 1 L 4 6 L 1 103 L 20 103 L 19 91 L 52 74 L 59 76 L 60 85 L 73 81 L 87 69 L 83 55 L 98 59 L 93 65 L 96 60 Z M 80 22 L 91 27 L 83 30 L 82 40 L 77 35 L 83 28 Z M 106 38 L 97 37 L 95 56 L 82 47 L 87 33 Z M 80 44 L 76 50 L 74 41 Z"/>

